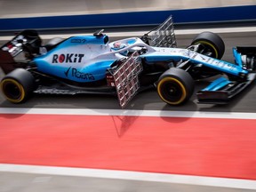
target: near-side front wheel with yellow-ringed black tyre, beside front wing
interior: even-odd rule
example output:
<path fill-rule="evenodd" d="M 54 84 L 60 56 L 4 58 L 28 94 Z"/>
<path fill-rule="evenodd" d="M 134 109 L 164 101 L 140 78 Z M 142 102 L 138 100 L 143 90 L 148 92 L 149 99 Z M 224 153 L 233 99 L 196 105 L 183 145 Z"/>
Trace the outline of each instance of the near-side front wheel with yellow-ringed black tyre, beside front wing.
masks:
<path fill-rule="evenodd" d="M 194 79 L 180 68 L 170 68 L 159 77 L 157 93 L 169 105 L 177 106 L 190 99 L 194 92 Z"/>

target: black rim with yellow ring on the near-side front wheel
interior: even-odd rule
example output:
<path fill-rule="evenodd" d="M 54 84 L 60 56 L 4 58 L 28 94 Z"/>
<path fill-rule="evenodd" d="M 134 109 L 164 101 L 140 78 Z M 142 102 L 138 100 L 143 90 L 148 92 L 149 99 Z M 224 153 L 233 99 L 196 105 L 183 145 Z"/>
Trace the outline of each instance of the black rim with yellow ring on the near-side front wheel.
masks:
<path fill-rule="evenodd" d="M 157 92 L 164 102 L 171 105 L 180 104 L 187 96 L 184 85 L 172 77 L 162 79 L 157 86 Z"/>

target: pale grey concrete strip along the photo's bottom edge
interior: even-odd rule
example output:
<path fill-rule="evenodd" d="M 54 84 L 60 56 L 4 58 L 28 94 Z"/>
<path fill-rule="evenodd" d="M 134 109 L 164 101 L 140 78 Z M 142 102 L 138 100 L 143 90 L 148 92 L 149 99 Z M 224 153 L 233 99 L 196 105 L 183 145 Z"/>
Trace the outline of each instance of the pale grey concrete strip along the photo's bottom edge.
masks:
<path fill-rule="evenodd" d="M 1 192 L 252 192 L 241 188 L 0 172 Z"/>

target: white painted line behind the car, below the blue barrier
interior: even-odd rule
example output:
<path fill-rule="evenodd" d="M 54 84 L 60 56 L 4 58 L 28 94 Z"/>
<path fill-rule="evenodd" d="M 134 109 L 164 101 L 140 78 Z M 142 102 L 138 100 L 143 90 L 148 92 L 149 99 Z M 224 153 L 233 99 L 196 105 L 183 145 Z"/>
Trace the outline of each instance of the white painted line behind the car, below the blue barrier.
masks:
<path fill-rule="evenodd" d="M 182 35 L 196 35 L 204 31 L 212 31 L 218 34 L 226 34 L 226 33 L 246 33 L 246 32 L 256 32 L 256 27 L 247 27 L 247 28 L 200 28 L 200 29 L 183 29 L 183 30 L 175 30 L 176 36 Z M 94 31 L 92 31 L 93 33 Z M 83 34 L 65 34 L 65 35 L 42 35 L 42 39 L 51 39 L 54 37 L 62 37 L 68 38 L 70 36 L 92 36 L 92 33 L 83 33 Z M 143 36 L 148 31 L 137 31 L 137 32 L 112 32 L 107 33 L 109 37 L 119 37 L 124 38 L 127 36 Z M 14 35 L 13 35 L 14 36 Z M 13 36 L 0 36 L 0 41 L 8 41 L 13 38 Z"/>

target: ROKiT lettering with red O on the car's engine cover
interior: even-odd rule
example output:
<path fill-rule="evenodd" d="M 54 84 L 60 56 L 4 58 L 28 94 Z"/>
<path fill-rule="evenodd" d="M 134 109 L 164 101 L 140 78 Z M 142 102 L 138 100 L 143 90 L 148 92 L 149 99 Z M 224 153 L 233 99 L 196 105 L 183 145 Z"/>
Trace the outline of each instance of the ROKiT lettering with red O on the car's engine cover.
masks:
<path fill-rule="evenodd" d="M 52 63 L 80 63 L 84 58 L 84 54 L 75 54 L 75 53 L 68 53 L 68 54 L 53 54 L 52 56 Z"/>

